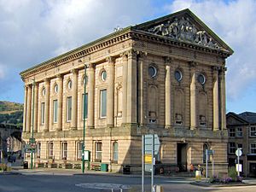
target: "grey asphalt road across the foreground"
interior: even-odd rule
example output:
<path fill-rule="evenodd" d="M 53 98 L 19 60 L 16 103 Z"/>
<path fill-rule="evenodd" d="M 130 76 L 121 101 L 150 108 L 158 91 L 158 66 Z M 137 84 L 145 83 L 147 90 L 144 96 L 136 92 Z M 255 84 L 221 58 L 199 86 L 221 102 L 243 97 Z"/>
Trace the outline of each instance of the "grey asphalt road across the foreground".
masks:
<path fill-rule="evenodd" d="M 168 177 L 155 178 L 155 183 L 166 192 L 239 192 L 256 191 L 256 186 L 205 188 L 191 185 L 189 180 Z M 150 191 L 150 177 L 145 178 L 145 189 Z M 140 177 L 117 177 L 110 175 L 0 175 L 0 192 L 140 192 Z M 129 189 L 128 189 L 129 188 Z"/>

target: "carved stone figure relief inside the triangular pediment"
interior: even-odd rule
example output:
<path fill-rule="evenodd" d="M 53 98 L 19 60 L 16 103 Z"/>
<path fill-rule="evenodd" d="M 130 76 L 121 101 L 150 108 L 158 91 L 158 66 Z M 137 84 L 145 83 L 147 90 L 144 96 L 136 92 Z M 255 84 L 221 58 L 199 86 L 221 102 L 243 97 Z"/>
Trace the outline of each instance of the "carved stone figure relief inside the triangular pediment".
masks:
<path fill-rule="evenodd" d="M 174 38 L 183 42 L 220 49 L 218 44 L 212 40 L 207 32 L 196 29 L 189 18 L 182 17 L 181 19 L 174 18 L 173 20 L 167 20 L 157 26 L 149 28 L 148 32 Z"/>

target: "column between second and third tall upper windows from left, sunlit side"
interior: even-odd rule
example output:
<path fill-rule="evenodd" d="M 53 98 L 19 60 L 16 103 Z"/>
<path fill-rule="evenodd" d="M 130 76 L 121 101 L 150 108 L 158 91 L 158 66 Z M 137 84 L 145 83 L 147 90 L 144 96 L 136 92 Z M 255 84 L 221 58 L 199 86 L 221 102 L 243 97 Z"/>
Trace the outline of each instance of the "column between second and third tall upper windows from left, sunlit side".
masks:
<path fill-rule="evenodd" d="M 61 74 L 57 75 L 58 84 L 58 119 L 56 131 L 62 131 L 62 105 L 63 105 L 63 77 Z"/>

